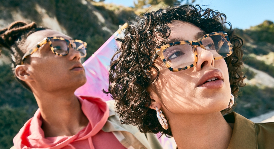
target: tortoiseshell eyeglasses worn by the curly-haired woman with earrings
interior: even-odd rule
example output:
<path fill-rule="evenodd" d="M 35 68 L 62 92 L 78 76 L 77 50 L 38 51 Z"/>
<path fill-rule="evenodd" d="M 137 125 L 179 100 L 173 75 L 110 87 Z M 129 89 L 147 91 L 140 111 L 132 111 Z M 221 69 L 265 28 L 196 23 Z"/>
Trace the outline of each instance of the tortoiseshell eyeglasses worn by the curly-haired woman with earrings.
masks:
<path fill-rule="evenodd" d="M 177 41 L 155 49 L 152 63 L 158 56 L 172 72 L 189 69 L 197 63 L 197 46 L 212 52 L 214 60 L 232 54 L 232 45 L 226 32 L 212 32 L 197 41 Z"/>

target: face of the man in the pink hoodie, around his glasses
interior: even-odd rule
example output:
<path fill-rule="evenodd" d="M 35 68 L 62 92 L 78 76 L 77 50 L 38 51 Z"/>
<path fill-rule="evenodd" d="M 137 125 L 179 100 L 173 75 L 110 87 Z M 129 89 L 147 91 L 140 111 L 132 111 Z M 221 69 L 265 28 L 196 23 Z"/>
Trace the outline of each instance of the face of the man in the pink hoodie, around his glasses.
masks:
<path fill-rule="evenodd" d="M 54 30 L 42 30 L 29 35 L 25 41 L 25 49 L 31 49 L 45 37 L 71 38 Z M 29 58 L 29 60 L 27 60 Z M 72 47 L 66 56 L 55 55 L 49 44 L 44 44 L 39 50 L 30 55 L 24 63 L 28 68 L 31 80 L 27 83 L 32 90 L 42 89 L 55 92 L 60 90 L 71 91 L 86 83 L 86 76 L 81 64 L 80 52 Z"/>

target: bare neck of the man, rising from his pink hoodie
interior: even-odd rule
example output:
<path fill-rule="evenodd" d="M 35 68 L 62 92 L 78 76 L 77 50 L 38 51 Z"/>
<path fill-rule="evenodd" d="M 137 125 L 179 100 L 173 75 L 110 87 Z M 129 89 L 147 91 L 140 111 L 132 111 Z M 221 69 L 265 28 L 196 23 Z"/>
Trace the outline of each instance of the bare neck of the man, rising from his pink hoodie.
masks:
<path fill-rule="evenodd" d="M 88 124 L 74 91 L 34 91 L 45 137 L 73 136 Z"/>

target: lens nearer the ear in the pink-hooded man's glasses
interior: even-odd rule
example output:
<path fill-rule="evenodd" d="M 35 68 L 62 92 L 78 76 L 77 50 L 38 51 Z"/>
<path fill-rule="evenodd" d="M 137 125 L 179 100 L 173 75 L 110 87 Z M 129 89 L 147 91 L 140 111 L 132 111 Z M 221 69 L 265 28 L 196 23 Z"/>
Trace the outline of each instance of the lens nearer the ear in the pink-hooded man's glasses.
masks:
<path fill-rule="evenodd" d="M 51 40 L 52 47 L 54 51 L 58 54 L 65 55 L 68 53 L 68 44 L 64 40 L 53 39 Z"/>

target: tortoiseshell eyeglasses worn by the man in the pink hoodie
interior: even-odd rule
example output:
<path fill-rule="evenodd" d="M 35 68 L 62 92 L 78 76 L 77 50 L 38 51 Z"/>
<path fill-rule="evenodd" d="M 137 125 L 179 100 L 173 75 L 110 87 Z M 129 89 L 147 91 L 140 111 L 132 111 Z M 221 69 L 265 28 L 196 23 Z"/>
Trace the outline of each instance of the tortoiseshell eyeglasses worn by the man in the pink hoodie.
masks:
<path fill-rule="evenodd" d="M 81 58 L 86 57 L 86 42 L 81 40 L 67 40 L 62 37 L 46 37 L 40 41 L 36 46 L 30 49 L 22 58 L 22 63 L 24 64 L 25 58 L 32 55 L 35 51 L 39 49 L 44 44 L 49 44 L 51 51 L 59 56 L 66 56 L 69 54 L 69 47 L 80 52 Z"/>

